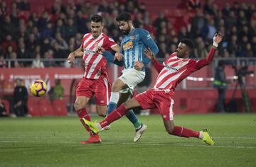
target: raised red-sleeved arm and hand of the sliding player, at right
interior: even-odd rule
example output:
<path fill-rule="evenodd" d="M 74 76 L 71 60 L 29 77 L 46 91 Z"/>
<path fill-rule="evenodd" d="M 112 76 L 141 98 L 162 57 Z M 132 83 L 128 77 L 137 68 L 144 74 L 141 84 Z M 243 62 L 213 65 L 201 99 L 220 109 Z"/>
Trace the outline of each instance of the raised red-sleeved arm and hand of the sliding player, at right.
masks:
<path fill-rule="evenodd" d="M 219 43 L 223 40 L 223 35 L 221 33 L 216 33 L 213 37 L 213 47 L 208 52 L 206 59 L 200 59 L 196 62 L 196 69 L 201 69 L 213 61 L 215 50 L 217 49 Z"/>

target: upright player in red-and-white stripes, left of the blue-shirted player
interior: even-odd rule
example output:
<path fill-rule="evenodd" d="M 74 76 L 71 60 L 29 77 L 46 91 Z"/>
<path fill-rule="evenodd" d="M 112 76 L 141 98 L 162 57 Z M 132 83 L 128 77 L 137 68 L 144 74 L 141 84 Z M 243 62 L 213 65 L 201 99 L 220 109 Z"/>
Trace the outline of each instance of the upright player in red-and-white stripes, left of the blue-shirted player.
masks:
<path fill-rule="evenodd" d="M 107 59 L 97 52 L 97 48 L 103 47 L 105 50 L 119 52 L 119 45 L 112 38 L 102 33 L 102 16 L 92 16 L 90 21 L 91 33 L 85 34 L 82 38 L 81 46 L 68 56 L 68 61 L 71 64 L 74 63 L 75 57 L 82 57 L 82 63 L 85 69 L 85 74 L 76 88 L 75 100 L 75 111 L 80 117 L 81 122 L 82 118 L 90 120 L 90 115 L 87 113 L 85 106 L 92 96 L 95 96 L 97 114 L 102 117 L 105 117 L 107 104 L 109 103 L 111 86 L 107 76 Z M 82 125 L 90 133 L 90 138 L 87 141 L 80 142 L 80 144 L 101 142 L 98 134 L 92 134 L 83 122 Z"/>

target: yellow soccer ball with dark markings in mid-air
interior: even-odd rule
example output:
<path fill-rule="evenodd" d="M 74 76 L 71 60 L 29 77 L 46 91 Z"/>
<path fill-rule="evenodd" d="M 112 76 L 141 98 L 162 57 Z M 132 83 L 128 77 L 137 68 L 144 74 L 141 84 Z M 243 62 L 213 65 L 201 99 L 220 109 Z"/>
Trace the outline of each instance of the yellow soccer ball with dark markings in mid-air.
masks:
<path fill-rule="evenodd" d="M 47 86 L 43 80 L 38 79 L 32 82 L 30 90 L 33 96 L 40 97 L 46 94 Z"/>

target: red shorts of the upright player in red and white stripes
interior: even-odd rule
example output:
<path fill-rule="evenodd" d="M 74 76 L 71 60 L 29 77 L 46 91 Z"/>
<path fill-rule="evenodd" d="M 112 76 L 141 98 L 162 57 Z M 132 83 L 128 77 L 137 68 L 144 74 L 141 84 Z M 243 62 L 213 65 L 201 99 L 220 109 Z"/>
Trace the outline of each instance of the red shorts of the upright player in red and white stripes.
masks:
<path fill-rule="evenodd" d="M 107 78 L 86 79 L 83 77 L 76 88 L 75 96 L 92 98 L 95 96 L 97 105 L 107 105 L 110 100 L 111 86 Z"/>

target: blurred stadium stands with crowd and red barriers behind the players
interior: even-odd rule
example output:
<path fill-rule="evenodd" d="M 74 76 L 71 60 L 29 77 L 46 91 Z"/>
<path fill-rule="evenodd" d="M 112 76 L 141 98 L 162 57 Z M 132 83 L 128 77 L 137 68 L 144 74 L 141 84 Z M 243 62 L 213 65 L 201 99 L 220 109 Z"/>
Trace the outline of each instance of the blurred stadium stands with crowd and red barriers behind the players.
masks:
<path fill-rule="evenodd" d="M 177 88 L 175 113 L 215 113 L 218 92 L 213 88 L 213 76 L 218 62 L 227 62 L 228 79 L 237 77 L 235 67 L 247 67 L 256 72 L 256 10 L 254 0 L 221 1 L 85 1 L 85 0 L 17 0 L 0 1 L 0 97 L 7 111 L 14 99 L 15 79 L 23 79 L 27 88 L 31 81 L 43 79 L 48 90 L 60 79 L 65 88 L 63 98 L 49 100 L 49 96 L 28 98 L 28 112 L 34 117 L 45 115 L 72 115 L 75 86 L 82 77 L 80 59 L 70 67 L 68 54 L 80 47 L 82 35 L 90 32 L 90 16 L 100 13 L 105 18 L 104 33 L 118 43 L 119 35 L 115 17 L 122 11 L 132 13 L 136 28 L 149 30 L 159 46 L 157 58 L 164 61 L 181 38 L 192 38 L 196 44 L 192 57 L 206 57 L 217 32 L 224 39 L 214 62 L 197 71 Z M 36 63 L 35 61 L 42 62 Z M 39 65 L 38 65 L 39 64 Z M 108 64 L 110 81 L 119 76 L 121 68 Z M 151 64 L 145 81 L 134 92 L 140 93 L 154 84 L 156 71 Z M 256 78 L 254 74 L 242 75 L 252 110 L 256 112 Z M 225 102 L 233 98 L 236 82 L 228 85 Z M 235 91 L 236 108 L 233 112 L 248 112 L 242 101 L 240 88 Z M 92 100 L 87 106 L 95 113 Z M 137 111 L 140 113 L 140 111 Z M 143 113 L 143 112 L 142 112 Z M 150 114 L 159 113 L 151 110 Z"/>

